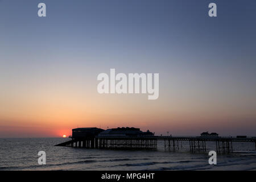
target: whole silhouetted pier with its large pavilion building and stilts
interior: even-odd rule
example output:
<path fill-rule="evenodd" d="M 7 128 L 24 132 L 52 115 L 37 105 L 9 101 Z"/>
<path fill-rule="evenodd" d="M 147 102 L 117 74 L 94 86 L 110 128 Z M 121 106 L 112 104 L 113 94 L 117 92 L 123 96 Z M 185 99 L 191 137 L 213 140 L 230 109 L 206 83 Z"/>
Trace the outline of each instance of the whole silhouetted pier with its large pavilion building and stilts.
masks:
<path fill-rule="evenodd" d="M 232 153 L 234 142 L 255 143 L 256 138 L 232 138 L 232 137 L 171 137 L 154 136 L 150 131 L 142 133 L 138 129 L 112 129 L 110 131 L 96 128 L 87 130 L 73 129 L 72 140 L 57 144 L 56 146 L 68 146 L 79 148 L 117 149 L 117 150 L 158 150 L 158 141 L 163 141 L 164 150 L 179 151 L 182 142 L 189 143 L 191 152 L 204 152 L 208 150 L 207 143 L 214 142 L 217 153 Z M 76 135 L 79 131 L 79 135 Z M 122 135 L 120 134 L 122 131 Z M 84 133 L 83 133 L 84 132 Z M 117 134 L 118 133 L 118 134 Z M 123 134 L 125 133 L 125 134 Z M 136 134 L 136 135 L 135 135 Z"/>

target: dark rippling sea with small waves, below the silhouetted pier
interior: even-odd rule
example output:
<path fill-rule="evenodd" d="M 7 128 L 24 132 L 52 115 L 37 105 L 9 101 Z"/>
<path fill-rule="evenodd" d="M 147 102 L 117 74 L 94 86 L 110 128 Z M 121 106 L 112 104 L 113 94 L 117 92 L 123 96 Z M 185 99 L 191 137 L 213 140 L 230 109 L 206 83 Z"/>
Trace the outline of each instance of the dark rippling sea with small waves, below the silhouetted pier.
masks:
<path fill-rule="evenodd" d="M 0 139 L 0 170 L 256 170 L 254 143 L 234 143 L 236 152 L 217 155 L 210 166 L 207 153 L 192 154 L 188 143 L 179 152 L 97 150 L 56 147 L 64 138 Z M 214 143 L 207 144 L 208 150 Z M 38 152 L 46 152 L 46 165 L 38 164 Z"/>

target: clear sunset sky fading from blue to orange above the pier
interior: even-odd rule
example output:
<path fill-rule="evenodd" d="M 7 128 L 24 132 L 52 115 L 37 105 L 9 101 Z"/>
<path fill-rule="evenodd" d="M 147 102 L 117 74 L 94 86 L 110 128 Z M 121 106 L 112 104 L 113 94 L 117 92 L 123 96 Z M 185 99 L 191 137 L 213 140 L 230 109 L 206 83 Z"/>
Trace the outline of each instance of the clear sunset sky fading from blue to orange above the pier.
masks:
<path fill-rule="evenodd" d="M 0 0 L 0 138 L 123 126 L 256 136 L 255 32 L 254 0 Z M 159 73 L 159 98 L 99 94 L 110 68 Z"/>

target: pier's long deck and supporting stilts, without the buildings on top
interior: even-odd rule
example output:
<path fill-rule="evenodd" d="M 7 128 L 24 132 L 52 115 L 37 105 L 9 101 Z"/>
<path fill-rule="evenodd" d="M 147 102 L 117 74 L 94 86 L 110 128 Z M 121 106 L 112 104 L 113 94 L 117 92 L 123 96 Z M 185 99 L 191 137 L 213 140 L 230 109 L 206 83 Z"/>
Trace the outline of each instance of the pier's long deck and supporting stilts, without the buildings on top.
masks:
<path fill-rule="evenodd" d="M 164 141 L 164 150 L 179 150 L 179 142 L 189 142 L 191 152 L 207 151 L 207 142 L 216 143 L 216 152 L 233 152 L 233 142 L 253 142 L 256 138 L 232 138 L 232 137 L 90 137 L 72 138 L 72 140 L 57 144 L 56 146 L 83 147 L 83 148 L 105 148 L 105 149 L 131 149 L 131 150 L 156 150 L 158 140 Z"/>

